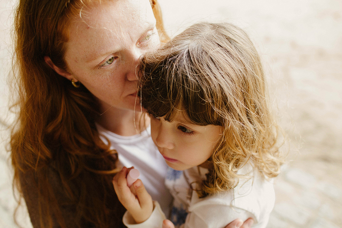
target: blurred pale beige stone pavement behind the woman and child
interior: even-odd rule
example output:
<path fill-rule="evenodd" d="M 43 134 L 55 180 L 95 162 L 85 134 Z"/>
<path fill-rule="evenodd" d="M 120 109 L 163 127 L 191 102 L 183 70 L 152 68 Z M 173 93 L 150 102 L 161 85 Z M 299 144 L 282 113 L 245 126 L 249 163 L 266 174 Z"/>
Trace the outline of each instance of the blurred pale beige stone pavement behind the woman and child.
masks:
<path fill-rule="evenodd" d="M 262 56 L 273 111 L 287 134 L 268 228 L 342 228 L 342 1 L 159 0 L 171 36 L 198 21 L 244 28 Z M 11 11 L 0 0 L 0 227 L 16 202 L 6 152 Z M 15 64 L 15 63 L 13 63 Z M 19 223 L 31 227 L 25 207 Z"/>

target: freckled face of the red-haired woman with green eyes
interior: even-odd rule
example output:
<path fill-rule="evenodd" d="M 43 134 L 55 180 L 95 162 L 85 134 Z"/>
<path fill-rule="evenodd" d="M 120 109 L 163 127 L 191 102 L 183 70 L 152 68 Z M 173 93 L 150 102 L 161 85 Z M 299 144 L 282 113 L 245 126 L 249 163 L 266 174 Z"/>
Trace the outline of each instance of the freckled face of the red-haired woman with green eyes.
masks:
<path fill-rule="evenodd" d="M 102 2 L 71 23 L 66 63 L 102 109 L 134 109 L 139 57 L 160 45 L 149 0 Z"/>

